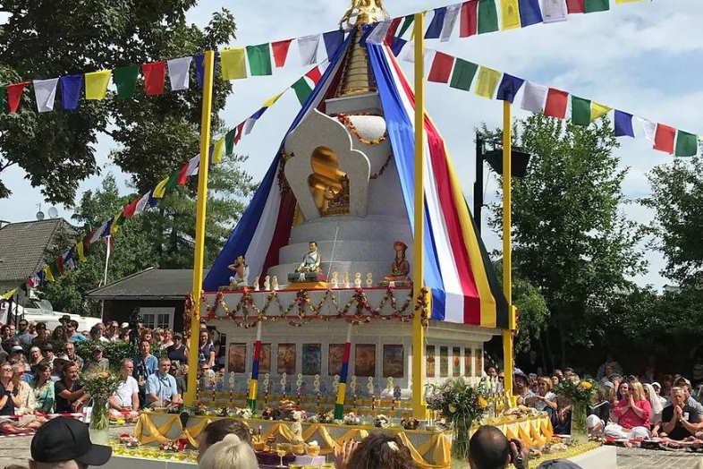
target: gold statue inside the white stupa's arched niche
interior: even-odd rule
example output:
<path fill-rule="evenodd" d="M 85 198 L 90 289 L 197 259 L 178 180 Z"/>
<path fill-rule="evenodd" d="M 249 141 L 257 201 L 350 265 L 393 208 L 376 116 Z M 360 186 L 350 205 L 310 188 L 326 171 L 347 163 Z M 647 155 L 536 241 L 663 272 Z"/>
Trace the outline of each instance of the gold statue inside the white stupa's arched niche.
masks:
<path fill-rule="evenodd" d="M 310 157 L 308 185 L 321 216 L 349 213 L 349 179 L 332 149 L 318 147 Z"/>

